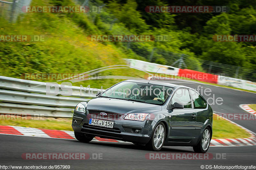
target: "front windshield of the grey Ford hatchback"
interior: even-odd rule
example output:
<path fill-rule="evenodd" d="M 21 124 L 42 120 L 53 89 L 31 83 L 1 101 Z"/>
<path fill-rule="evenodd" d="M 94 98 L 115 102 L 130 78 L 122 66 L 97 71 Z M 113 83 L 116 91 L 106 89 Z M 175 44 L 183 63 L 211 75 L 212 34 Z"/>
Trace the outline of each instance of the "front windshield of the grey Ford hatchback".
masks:
<path fill-rule="evenodd" d="M 172 90 L 172 87 L 163 85 L 123 81 L 106 90 L 100 97 L 162 105 Z"/>

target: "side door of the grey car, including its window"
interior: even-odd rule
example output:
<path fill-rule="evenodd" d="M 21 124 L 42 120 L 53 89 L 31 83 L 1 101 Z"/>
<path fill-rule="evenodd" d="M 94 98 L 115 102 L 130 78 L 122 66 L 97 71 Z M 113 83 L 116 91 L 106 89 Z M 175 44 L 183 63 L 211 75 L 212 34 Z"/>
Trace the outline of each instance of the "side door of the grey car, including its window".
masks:
<path fill-rule="evenodd" d="M 176 90 L 170 104 L 175 102 L 184 105 L 184 108 L 171 110 L 171 141 L 189 142 L 195 137 L 196 112 L 188 89 Z"/>

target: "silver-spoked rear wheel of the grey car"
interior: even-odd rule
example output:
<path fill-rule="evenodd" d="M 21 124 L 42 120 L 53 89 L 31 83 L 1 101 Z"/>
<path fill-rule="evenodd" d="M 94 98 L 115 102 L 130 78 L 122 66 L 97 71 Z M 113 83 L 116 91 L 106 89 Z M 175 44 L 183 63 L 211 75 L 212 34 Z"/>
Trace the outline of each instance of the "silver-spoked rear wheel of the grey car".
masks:
<path fill-rule="evenodd" d="M 201 140 L 196 146 L 193 146 L 193 150 L 197 153 L 207 152 L 210 146 L 211 137 L 212 136 L 210 128 L 205 128 Z"/>

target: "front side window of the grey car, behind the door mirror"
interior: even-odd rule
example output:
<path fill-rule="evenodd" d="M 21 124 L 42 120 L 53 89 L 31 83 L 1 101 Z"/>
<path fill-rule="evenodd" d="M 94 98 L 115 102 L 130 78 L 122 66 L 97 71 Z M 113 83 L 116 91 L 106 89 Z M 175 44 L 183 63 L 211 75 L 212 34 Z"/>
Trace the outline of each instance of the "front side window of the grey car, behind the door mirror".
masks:
<path fill-rule="evenodd" d="M 177 90 L 172 97 L 171 104 L 175 102 L 184 105 L 184 108 L 192 108 L 188 89 Z"/>

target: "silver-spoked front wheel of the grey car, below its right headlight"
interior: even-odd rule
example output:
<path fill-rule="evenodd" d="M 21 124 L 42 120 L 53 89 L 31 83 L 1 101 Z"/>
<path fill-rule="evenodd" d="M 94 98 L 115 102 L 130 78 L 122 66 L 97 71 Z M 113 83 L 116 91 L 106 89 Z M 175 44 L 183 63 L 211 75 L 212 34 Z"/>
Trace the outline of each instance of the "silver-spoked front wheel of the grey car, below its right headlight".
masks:
<path fill-rule="evenodd" d="M 147 148 L 152 151 L 160 151 L 164 145 L 166 130 L 163 122 L 156 125 L 150 141 L 146 144 Z"/>

